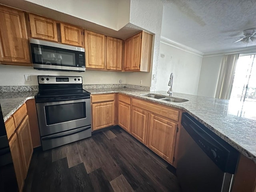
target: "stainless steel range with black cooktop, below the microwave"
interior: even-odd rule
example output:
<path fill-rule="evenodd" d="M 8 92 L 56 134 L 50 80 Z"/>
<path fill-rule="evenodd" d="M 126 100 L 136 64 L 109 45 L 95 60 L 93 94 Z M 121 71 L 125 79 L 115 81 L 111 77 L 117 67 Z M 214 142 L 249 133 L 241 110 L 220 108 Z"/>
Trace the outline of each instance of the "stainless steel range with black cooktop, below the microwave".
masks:
<path fill-rule="evenodd" d="M 43 150 L 92 136 L 90 93 L 80 76 L 38 76 L 35 96 Z"/>

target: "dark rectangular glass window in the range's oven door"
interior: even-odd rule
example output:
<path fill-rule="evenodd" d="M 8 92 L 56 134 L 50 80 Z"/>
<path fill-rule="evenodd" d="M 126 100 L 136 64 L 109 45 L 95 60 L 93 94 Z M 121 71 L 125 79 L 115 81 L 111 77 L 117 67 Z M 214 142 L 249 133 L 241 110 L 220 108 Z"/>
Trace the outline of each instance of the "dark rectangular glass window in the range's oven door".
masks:
<path fill-rule="evenodd" d="M 86 118 L 85 102 L 45 106 L 46 124 Z"/>

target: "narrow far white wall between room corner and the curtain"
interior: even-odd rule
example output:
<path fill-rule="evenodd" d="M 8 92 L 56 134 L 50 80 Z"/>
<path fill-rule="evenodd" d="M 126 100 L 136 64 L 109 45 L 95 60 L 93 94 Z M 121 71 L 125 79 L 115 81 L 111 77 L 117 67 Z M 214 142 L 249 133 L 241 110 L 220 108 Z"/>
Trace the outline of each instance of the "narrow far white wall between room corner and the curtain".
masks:
<path fill-rule="evenodd" d="M 204 57 L 200 72 L 197 94 L 215 97 L 223 55 Z"/>

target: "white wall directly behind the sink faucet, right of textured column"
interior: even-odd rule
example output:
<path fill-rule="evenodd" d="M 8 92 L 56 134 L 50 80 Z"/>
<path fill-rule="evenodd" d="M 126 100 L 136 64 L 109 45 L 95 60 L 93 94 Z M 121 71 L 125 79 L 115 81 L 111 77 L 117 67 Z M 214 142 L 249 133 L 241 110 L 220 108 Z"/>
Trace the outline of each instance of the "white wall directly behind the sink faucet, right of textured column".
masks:
<path fill-rule="evenodd" d="M 185 94 L 197 93 L 202 56 L 186 52 L 172 44 L 160 43 L 156 90 L 168 91 L 170 74 L 173 73 L 172 91 Z"/>

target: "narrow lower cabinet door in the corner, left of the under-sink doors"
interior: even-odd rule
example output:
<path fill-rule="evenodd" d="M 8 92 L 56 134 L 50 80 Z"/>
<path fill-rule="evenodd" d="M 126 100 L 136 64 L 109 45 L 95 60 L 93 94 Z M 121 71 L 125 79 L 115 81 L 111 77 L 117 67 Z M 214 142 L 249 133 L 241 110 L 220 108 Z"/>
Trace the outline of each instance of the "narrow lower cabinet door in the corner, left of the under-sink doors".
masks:
<path fill-rule="evenodd" d="M 118 102 L 118 125 L 124 128 L 126 131 L 130 132 L 130 113 L 131 106 Z"/>

